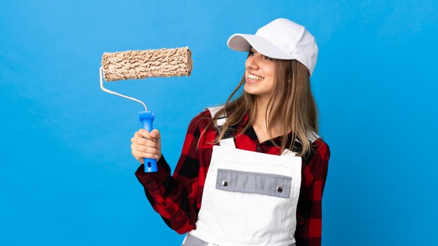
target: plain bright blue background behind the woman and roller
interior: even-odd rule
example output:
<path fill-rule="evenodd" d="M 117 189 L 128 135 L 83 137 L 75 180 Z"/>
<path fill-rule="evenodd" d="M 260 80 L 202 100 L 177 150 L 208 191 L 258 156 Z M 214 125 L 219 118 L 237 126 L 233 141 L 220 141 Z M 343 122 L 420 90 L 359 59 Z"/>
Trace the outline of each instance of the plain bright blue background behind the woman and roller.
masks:
<path fill-rule="evenodd" d="M 1 1 L 0 244 L 179 245 L 134 176 L 139 103 L 101 91 L 103 52 L 189 46 L 192 75 L 106 84 L 156 114 L 174 168 L 277 17 L 319 46 L 311 78 L 332 152 L 323 245 L 435 242 L 437 1 Z"/>

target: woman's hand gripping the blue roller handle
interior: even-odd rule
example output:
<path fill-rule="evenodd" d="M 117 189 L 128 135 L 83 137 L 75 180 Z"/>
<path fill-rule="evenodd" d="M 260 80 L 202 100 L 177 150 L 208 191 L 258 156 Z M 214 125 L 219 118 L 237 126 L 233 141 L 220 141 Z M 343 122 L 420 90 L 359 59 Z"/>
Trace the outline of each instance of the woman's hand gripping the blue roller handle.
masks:
<path fill-rule="evenodd" d="M 161 135 L 157 129 L 153 129 L 151 132 L 145 129 L 140 129 L 134 133 L 134 137 L 131 138 L 131 150 L 132 156 L 144 164 L 145 158 L 157 159 L 161 158 Z"/>

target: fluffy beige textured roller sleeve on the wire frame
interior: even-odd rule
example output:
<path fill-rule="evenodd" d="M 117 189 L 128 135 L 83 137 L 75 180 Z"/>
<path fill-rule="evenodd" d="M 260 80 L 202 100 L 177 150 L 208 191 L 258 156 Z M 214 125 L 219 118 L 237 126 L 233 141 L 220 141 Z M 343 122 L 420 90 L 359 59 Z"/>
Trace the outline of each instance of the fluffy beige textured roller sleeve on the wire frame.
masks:
<path fill-rule="evenodd" d="M 188 47 L 160 50 L 104 52 L 102 68 L 106 81 L 148 77 L 190 76 L 192 52 Z"/>

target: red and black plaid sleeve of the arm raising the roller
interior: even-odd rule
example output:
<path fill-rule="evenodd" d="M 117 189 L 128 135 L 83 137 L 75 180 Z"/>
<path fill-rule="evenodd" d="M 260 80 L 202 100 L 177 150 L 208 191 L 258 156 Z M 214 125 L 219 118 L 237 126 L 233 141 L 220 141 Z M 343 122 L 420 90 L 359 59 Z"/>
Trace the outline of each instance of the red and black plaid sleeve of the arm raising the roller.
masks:
<path fill-rule="evenodd" d="M 190 122 L 174 175 L 171 175 L 164 155 L 157 163 L 157 173 L 144 173 L 143 164 L 135 173 L 153 209 L 171 229 L 180 234 L 194 228 L 201 207 L 205 175 L 213 149 L 212 145 L 206 143 L 214 139 L 216 131 L 212 127 L 207 129 L 198 150 L 197 143 L 209 119 L 211 114 L 206 110 Z"/>

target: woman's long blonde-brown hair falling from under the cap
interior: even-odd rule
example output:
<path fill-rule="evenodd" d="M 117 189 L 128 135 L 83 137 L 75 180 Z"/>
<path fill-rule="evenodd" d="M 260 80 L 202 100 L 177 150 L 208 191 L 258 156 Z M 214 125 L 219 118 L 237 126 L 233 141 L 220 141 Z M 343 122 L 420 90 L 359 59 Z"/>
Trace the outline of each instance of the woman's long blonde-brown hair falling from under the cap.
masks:
<path fill-rule="evenodd" d="M 250 52 L 248 53 L 249 55 Z M 267 106 L 269 110 L 264 115 L 267 122 L 268 135 L 272 139 L 270 126 L 274 121 L 278 120 L 281 124 L 281 136 L 283 137 L 281 138 L 281 146 L 276 145 L 274 141 L 272 143 L 280 148 L 280 152 L 283 152 L 288 142 L 288 129 L 292 129 L 292 140 L 288 149 L 292 150 L 297 138 L 302 144 L 302 151 L 297 154 L 302 157 L 304 154 L 310 154 L 311 152 L 311 144 L 307 138 L 308 133 L 313 131 L 318 134 L 317 107 L 311 92 L 309 69 L 297 60 L 274 59 L 274 62 L 275 82 Z M 224 137 L 229 126 L 234 126 L 241 122 L 246 113 L 249 116 L 248 124 L 237 136 L 253 125 L 255 113 L 257 112 L 257 95 L 248 94 L 243 90 L 237 99 L 232 100 L 234 94 L 239 91 L 244 82 L 245 75 L 243 74 L 239 85 L 228 97 L 225 106 L 218 110 L 209 124 L 207 124 L 207 127 L 213 125 L 216 129 L 219 129 L 219 135 L 209 144 L 219 143 L 219 140 Z M 222 114 L 227 117 L 227 121 L 220 129 L 216 122 Z M 201 136 L 205 132 L 203 131 Z"/>

